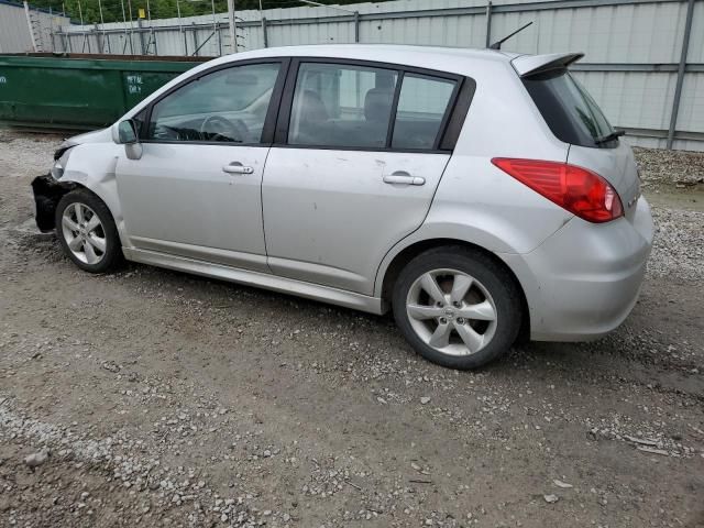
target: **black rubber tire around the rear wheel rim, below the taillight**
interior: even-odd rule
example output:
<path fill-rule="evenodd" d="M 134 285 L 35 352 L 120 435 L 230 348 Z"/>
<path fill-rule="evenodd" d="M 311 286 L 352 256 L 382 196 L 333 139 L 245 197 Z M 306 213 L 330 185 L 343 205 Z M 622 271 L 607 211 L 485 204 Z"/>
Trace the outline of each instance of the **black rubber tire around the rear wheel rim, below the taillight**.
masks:
<path fill-rule="evenodd" d="M 451 355 L 427 344 L 414 330 L 406 300 L 414 283 L 437 270 L 457 270 L 479 280 L 491 295 L 496 310 L 493 338 L 477 352 Z M 410 345 L 426 360 L 457 370 L 483 366 L 506 353 L 516 341 L 522 318 L 522 302 L 514 277 L 491 256 L 463 246 L 429 250 L 410 261 L 396 279 L 393 292 L 396 324 Z"/>

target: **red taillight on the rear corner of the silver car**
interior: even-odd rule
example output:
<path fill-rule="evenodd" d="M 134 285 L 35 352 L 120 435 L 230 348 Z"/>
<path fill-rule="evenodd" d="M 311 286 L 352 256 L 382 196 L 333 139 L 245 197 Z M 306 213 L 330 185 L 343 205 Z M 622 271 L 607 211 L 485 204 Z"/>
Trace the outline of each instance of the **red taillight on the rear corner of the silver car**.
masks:
<path fill-rule="evenodd" d="M 492 163 L 558 206 L 590 222 L 624 215 L 616 189 L 598 174 L 566 163 L 495 157 Z"/>

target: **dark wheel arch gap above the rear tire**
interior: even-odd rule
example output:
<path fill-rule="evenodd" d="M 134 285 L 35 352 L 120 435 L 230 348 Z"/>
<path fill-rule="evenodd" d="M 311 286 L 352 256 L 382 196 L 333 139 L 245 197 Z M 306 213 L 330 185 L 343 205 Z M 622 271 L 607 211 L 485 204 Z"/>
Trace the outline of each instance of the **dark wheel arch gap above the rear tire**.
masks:
<path fill-rule="evenodd" d="M 526 293 L 524 290 L 520 280 L 514 273 L 514 271 L 506 264 L 496 253 L 481 246 L 469 242 L 466 240 L 461 239 L 452 239 L 452 238 L 439 238 L 439 239 L 425 239 L 416 241 L 400 251 L 398 251 L 393 257 L 391 262 L 382 270 L 380 267 L 380 272 L 377 274 L 377 292 L 382 297 L 384 305 L 391 307 L 393 299 L 393 288 L 398 275 L 402 270 L 416 256 L 425 253 L 429 250 L 436 250 L 439 248 L 450 248 L 450 246 L 461 246 L 469 249 L 471 251 L 475 251 L 482 253 L 492 260 L 497 266 L 502 267 L 504 271 L 508 273 L 508 275 L 513 278 L 518 293 L 520 295 L 521 301 L 521 324 L 520 330 L 518 332 L 518 341 L 524 342 L 527 341 L 530 337 L 530 312 L 528 309 L 528 301 L 526 298 Z"/>

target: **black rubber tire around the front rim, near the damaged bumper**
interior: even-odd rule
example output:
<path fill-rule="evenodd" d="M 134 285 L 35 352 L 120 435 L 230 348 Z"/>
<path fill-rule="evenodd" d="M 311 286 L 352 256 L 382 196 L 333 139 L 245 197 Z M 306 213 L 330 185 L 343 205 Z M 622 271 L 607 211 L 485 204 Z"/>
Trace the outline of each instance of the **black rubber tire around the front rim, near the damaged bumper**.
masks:
<path fill-rule="evenodd" d="M 95 264 L 89 264 L 78 258 L 70 248 L 68 248 L 68 242 L 64 234 L 64 211 L 76 204 L 87 206 L 100 219 L 101 231 L 105 234 L 106 250 L 105 253 L 100 255 L 100 260 Z M 118 234 L 118 228 L 114 224 L 112 215 L 108 206 L 89 190 L 76 189 L 64 195 L 56 206 L 54 221 L 56 226 L 56 237 L 62 244 L 64 253 L 81 270 L 89 273 L 106 273 L 114 270 L 123 262 L 122 244 L 120 243 L 120 235 Z"/>

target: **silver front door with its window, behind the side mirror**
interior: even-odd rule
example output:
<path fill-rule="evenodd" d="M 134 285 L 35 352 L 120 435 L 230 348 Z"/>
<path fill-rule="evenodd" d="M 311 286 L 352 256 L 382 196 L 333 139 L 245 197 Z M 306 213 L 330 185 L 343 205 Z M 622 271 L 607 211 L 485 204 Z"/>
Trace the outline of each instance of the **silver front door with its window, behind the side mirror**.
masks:
<path fill-rule="evenodd" d="M 219 69 L 152 107 L 141 158 L 121 156 L 116 169 L 132 246 L 268 271 L 263 135 L 280 69 L 279 62 Z"/>

